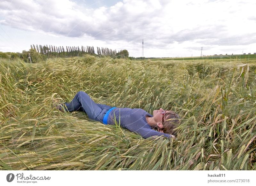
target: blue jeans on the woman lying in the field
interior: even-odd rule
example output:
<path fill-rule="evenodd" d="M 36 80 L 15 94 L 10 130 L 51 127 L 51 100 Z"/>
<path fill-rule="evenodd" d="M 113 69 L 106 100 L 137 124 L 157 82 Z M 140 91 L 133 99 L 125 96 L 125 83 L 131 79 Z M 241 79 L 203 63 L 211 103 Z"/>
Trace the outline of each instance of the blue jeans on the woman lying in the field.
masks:
<path fill-rule="evenodd" d="M 66 103 L 66 111 L 82 111 L 85 112 L 88 117 L 95 121 L 100 121 L 103 123 L 103 117 L 112 106 L 97 104 L 92 98 L 83 91 L 76 93 L 76 96 L 72 99 L 70 103 Z"/>

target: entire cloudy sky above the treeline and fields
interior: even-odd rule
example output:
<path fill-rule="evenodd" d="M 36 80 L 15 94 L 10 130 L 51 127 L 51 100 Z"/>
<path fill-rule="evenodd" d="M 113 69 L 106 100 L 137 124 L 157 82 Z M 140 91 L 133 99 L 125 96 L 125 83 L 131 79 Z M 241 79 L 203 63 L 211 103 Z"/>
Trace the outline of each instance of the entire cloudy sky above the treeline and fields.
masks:
<path fill-rule="evenodd" d="M 128 50 L 129 56 L 256 52 L 256 1 L 0 0 L 0 51 L 31 44 Z M 96 52 L 96 51 L 95 51 Z"/>

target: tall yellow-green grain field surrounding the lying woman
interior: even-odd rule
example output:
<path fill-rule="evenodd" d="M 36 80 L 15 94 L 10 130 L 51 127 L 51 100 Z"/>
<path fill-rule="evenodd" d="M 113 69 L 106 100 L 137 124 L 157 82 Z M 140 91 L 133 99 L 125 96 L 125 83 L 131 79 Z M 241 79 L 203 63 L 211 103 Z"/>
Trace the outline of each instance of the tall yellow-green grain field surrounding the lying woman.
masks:
<path fill-rule="evenodd" d="M 1 170 L 256 170 L 254 61 L 0 60 Z M 80 90 L 96 103 L 177 112 L 177 139 L 52 108 Z"/>

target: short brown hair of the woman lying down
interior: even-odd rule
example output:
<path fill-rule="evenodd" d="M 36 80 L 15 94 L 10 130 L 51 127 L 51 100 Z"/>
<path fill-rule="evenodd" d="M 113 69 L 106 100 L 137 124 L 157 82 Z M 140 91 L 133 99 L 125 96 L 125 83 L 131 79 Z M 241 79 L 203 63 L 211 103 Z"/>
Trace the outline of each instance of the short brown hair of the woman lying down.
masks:
<path fill-rule="evenodd" d="M 180 118 L 179 115 L 176 114 L 175 112 L 166 111 L 164 113 L 163 128 L 161 130 L 163 130 L 163 132 L 166 133 L 166 134 L 176 135 L 177 131 L 174 130 L 174 129 L 176 127 L 178 127 L 178 125 L 180 124 L 180 120 L 177 120 L 179 118 Z"/>

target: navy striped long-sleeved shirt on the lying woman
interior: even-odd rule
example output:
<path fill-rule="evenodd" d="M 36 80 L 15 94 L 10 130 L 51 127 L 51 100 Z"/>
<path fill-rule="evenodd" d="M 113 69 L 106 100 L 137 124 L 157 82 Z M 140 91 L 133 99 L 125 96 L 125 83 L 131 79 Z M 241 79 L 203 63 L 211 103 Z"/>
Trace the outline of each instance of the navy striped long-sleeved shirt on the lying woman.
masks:
<path fill-rule="evenodd" d="M 109 112 L 108 124 L 115 125 L 114 118 L 116 118 L 117 124 L 119 124 L 120 120 L 120 126 L 130 130 L 131 132 L 139 134 L 145 139 L 151 136 L 162 135 L 167 138 L 171 138 L 169 134 L 153 130 L 148 124 L 146 116 L 153 117 L 151 114 L 140 108 L 115 108 Z"/>

